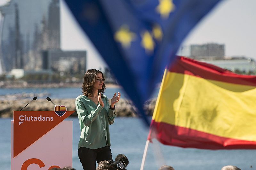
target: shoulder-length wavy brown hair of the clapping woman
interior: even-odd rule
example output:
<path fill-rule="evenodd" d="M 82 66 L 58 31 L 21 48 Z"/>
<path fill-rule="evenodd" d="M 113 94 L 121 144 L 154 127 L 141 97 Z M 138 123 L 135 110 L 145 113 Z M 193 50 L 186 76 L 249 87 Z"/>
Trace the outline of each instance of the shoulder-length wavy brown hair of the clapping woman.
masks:
<path fill-rule="evenodd" d="M 96 69 L 89 69 L 84 74 L 84 83 L 81 88 L 81 91 L 83 92 L 84 96 L 90 97 L 93 95 L 93 89 L 92 86 L 94 82 L 96 81 L 96 76 L 98 73 L 102 74 L 103 81 L 105 82 L 105 78 L 103 76 L 103 73 L 100 70 Z M 102 89 L 98 90 L 98 94 L 101 93 L 101 97 L 103 97 L 103 94 L 105 92 L 106 86 L 103 82 Z"/>

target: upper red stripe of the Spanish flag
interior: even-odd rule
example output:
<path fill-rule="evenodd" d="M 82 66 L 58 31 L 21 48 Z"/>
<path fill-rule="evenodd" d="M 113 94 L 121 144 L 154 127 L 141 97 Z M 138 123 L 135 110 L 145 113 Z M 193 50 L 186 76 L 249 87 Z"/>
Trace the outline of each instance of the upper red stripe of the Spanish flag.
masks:
<path fill-rule="evenodd" d="M 177 56 L 168 67 L 170 72 L 193 75 L 209 80 L 256 86 L 256 76 L 239 75 L 212 64 Z"/>

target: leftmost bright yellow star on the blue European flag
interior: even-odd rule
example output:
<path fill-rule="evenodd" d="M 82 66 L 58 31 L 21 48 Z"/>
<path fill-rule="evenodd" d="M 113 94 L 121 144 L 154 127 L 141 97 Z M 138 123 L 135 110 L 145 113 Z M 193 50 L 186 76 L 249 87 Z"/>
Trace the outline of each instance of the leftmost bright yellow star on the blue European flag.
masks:
<path fill-rule="evenodd" d="M 136 38 L 136 34 L 130 32 L 127 25 L 122 25 L 121 28 L 115 33 L 115 40 L 120 42 L 123 47 L 128 48 L 131 42 Z"/>

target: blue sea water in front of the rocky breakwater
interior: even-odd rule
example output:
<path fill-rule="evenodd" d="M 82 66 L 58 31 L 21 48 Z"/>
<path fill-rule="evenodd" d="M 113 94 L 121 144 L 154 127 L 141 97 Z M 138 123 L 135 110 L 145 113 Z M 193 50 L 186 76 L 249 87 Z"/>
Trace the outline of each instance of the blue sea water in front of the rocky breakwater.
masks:
<path fill-rule="evenodd" d="M 0 118 L 0 169 L 11 167 L 11 118 Z M 78 158 L 77 146 L 80 138 L 79 122 L 73 121 L 73 167 L 83 170 Z M 148 136 L 148 127 L 140 118 L 116 117 L 110 125 L 111 151 L 113 159 L 124 154 L 129 159 L 127 170 L 139 170 Z M 157 170 L 167 164 L 175 170 L 220 170 L 222 166 L 235 165 L 242 170 L 256 169 L 256 150 L 207 150 L 167 146 L 153 140 L 149 144 L 145 170 Z M 252 168 L 251 168 L 252 166 Z M 39 169 L 38 169 L 39 170 Z"/>

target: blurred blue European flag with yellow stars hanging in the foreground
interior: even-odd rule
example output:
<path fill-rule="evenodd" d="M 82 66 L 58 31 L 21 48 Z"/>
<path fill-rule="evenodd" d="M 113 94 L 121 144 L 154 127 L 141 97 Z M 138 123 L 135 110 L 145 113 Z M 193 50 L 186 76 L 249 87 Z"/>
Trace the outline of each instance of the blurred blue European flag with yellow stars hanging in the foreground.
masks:
<path fill-rule="evenodd" d="M 65 0 L 146 121 L 143 104 L 164 68 L 188 32 L 219 1 Z"/>

